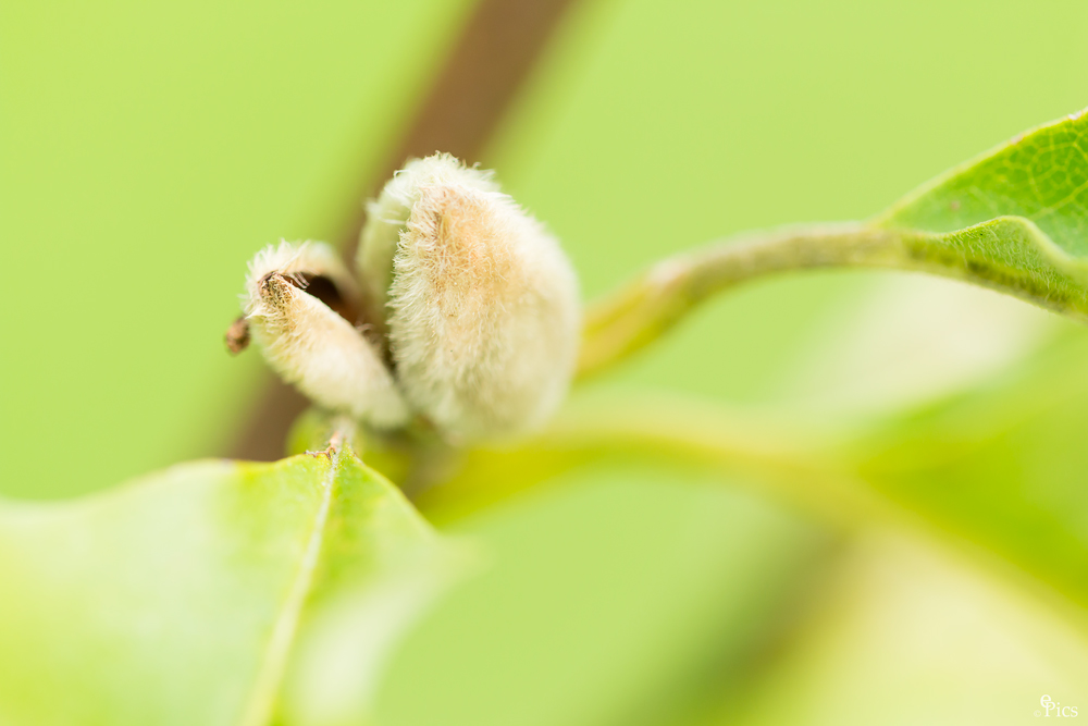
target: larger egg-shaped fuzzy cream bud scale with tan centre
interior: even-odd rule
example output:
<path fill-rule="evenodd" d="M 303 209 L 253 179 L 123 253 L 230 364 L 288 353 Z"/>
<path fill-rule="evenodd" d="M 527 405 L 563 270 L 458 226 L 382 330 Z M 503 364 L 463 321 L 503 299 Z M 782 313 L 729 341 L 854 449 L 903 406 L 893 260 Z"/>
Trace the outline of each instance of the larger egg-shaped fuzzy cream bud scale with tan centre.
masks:
<path fill-rule="evenodd" d="M 580 333 L 577 280 L 558 243 L 448 156 L 412 162 L 386 192 L 411 201 L 388 304 L 408 402 L 454 440 L 541 423 L 566 393 Z"/>

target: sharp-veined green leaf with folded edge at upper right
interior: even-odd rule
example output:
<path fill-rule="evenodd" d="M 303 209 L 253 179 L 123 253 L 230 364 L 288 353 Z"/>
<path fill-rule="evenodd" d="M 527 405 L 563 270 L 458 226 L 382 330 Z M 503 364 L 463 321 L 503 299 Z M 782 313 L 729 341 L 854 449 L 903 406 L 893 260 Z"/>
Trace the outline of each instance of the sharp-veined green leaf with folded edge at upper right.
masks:
<path fill-rule="evenodd" d="M 944 233 L 907 243 L 917 268 L 1088 320 L 1088 113 L 1019 134 L 880 214 L 887 229 Z"/>

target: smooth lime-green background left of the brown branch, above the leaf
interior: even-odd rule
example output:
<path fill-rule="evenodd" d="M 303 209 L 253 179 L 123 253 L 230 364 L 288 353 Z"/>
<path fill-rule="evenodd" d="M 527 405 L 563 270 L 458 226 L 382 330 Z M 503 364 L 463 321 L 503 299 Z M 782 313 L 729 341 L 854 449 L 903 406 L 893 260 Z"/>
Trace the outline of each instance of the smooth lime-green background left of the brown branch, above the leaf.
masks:
<path fill-rule="evenodd" d="M 0 350 L 0 492 L 74 494 L 230 448 L 264 382 L 222 339 L 246 261 L 343 233 L 469 9 L 0 9 L 0 238 L 23 271 L 0 310 L 18 341 Z"/>

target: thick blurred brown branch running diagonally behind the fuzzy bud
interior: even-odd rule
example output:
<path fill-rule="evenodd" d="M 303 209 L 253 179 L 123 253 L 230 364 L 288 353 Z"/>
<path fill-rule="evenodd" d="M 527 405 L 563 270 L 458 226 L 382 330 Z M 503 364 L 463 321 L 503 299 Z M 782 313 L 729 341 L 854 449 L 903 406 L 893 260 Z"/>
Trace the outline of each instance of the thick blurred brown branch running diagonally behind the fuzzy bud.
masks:
<path fill-rule="evenodd" d="M 475 161 L 572 1 L 480 0 L 397 151 L 357 198 L 374 195 L 410 157 L 447 151 Z M 349 256 L 363 223 L 361 205 L 356 210 L 342 241 Z M 269 378 L 231 448 L 235 458 L 283 456 L 290 423 L 307 406 L 301 394 Z"/>

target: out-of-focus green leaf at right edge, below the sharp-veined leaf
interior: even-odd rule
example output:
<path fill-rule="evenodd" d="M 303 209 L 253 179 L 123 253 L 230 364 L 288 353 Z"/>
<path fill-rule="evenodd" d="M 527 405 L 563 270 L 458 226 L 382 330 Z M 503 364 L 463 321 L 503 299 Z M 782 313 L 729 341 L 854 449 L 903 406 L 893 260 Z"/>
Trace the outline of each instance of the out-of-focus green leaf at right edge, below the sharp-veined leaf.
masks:
<path fill-rule="evenodd" d="M 1062 336 L 986 386 L 865 442 L 881 491 L 1088 606 L 1088 340 Z"/>

